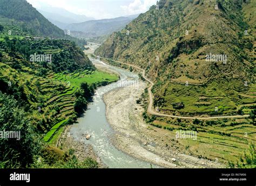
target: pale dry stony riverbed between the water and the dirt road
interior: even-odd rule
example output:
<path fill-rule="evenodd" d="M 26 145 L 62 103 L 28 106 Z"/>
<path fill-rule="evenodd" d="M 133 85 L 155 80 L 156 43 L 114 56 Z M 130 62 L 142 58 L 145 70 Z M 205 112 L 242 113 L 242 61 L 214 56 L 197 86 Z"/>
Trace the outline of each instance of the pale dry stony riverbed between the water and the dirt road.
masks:
<path fill-rule="evenodd" d="M 147 87 L 117 88 L 104 94 L 107 120 L 114 129 L 112 143 L 125 153 L 166 168 L 220 168 L 219 162 L 181 153 L 178 141 L 167 130 L 149 126 L 143 118 L 144 108 L 136 101 Z"/>

